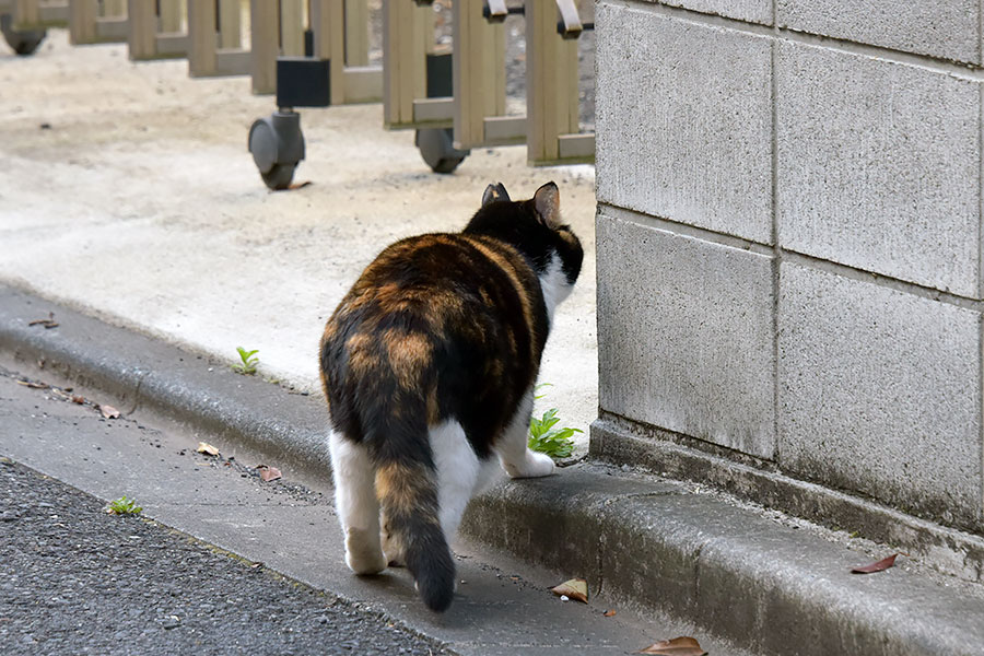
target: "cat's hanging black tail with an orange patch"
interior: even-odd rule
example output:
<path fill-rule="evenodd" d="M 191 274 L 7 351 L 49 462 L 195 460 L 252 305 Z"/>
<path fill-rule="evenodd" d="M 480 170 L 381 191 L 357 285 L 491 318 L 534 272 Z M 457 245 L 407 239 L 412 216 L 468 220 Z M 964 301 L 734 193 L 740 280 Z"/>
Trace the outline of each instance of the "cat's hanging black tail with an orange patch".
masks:
<path fill-rule="evenodd" d="M 443 612 L 455 594 L 455 562 L 441 527 L 434 466 L 414 450 L 399 457 L 377 453 L 376 496 L 424 604 Z M 430 455 L 430 448 L 425 453 Z"/>

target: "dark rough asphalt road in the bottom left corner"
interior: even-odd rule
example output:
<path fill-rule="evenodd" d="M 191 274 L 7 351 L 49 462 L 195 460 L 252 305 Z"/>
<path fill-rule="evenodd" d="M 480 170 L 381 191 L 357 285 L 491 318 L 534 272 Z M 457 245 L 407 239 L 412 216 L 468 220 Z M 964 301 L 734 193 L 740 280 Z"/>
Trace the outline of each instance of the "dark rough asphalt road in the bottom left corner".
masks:
<path fill-rule="evenodd" d="M 8 458 L 0 489 L 4 654 L 446 653 Z"/>

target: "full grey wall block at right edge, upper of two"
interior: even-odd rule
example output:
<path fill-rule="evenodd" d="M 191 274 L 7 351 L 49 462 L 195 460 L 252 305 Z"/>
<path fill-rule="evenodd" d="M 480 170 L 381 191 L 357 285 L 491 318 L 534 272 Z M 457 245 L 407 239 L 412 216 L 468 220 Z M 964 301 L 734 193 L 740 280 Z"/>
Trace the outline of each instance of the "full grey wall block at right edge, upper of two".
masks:
<path fill-rule="evenodd" d="M 783 248 L 979 297 L 980 84 L 783 40 L 775 74 Z"/>

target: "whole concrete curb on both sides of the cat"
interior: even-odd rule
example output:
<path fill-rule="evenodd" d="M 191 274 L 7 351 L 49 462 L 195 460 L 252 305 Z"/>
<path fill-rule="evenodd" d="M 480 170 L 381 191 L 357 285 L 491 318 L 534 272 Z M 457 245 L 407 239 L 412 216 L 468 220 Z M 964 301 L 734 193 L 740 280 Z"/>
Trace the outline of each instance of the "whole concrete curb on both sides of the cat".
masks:
<path fill-rule="evenodd" d="M 59 327 L 28 326 L 55 313 Z M 0 350 L 304 469 L 328 467 L 320 399 L 0 288 Z M 468 535 L 766 654 L 980 655 L 984 595 L 865 557 L 686 485 L 582 465 L 479 497 Z"/>

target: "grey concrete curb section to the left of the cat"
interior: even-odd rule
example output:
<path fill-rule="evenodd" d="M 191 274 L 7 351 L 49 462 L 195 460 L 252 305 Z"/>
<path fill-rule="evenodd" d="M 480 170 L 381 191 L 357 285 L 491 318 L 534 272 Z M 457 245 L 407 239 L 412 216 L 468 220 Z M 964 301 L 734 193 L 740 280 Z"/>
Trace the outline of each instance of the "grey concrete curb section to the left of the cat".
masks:
<path fill-rule="evenodd" d="M 30 326 L 55 313 L 58 328 Z M 164 414 L 281 462 L 330 471 L 327 410 L 227 362 L 183 351 L 73 309 L 0 285 L 0 350 L 79 385 L 106 391 L 120 410 Z"/>

